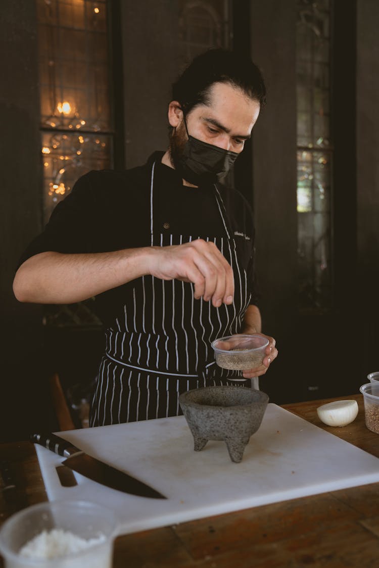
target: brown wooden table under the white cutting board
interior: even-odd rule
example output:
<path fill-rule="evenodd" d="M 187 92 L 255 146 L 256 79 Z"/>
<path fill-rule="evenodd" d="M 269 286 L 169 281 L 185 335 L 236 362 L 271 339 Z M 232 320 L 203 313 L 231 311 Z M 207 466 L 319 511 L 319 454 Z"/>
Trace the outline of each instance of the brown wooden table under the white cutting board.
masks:
<path fill-rule="evenodd" d="M 357 419 L 344 428 L 322 424 L 316 407 L 330 400 L 284 408 L 379 457 L 379 436 Z M 337 400 L 337 399 L 333 399 Z M 16 475 L 17 501 L 0 496 L 1 521 L 15 510 L 47 500 L 30 442 L 2 444 L 1 458 Z M 1 560 L 0 560 L 1 566 Z M 120 536 L 116 568 L 247 568 L 379 566 L 379 483 L 311 495 L 234 513 Z"/>

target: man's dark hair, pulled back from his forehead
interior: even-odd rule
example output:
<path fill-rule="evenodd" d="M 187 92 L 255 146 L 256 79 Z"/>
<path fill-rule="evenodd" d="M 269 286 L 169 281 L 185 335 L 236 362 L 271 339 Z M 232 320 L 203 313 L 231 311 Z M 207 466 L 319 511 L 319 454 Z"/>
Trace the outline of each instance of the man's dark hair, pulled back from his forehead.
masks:
<path fill-rule="evenodd" d="M 180 102 L 186 114 L 195 106 L 209 106 L 209 91 L 214 83 L 237 87 L 261 107 L 266 102 L 266 87 L 260 69 L 249 57 L 227 49 L 209 49 L 195 57 L 173 83 L 172 100 Z"/>

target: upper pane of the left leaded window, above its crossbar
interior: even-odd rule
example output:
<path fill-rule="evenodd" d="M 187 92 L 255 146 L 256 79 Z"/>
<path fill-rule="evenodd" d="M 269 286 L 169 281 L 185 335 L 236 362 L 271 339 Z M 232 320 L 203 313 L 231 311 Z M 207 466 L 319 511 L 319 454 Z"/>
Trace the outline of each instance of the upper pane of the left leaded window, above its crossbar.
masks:
<path fill-rule="evenodd" d="M 111 130 L 106 2 L 38 0 L 41 127 Z"/>

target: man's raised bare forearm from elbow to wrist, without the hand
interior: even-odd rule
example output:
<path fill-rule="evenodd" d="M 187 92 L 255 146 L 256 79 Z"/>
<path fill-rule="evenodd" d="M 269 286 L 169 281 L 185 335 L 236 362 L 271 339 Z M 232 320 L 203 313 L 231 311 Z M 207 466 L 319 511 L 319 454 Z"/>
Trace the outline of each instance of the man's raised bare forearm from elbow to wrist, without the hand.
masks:
<path fill-rule="evenodd" d="M 15 275 L 20 302 L 81 302 L 148 273 L 149 248 L 93 254 L 44 252 L 28 258 Z"/>

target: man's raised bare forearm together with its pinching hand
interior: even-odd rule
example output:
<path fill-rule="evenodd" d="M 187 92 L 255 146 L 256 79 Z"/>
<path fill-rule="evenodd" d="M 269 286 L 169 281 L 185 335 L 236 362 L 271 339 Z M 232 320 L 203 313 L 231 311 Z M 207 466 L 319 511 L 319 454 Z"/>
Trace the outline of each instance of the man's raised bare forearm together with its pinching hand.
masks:
<path fill-rule="evenodd" d="M 148 274 L 192 282 L 194 298 L 203 297 L 215 307 L 233 301 L 232 268 L 215 244 L 203 239 L 105 253 L 36 254 L 18 269 L 13 290 L 20 302 L 69 304 Z"/>

